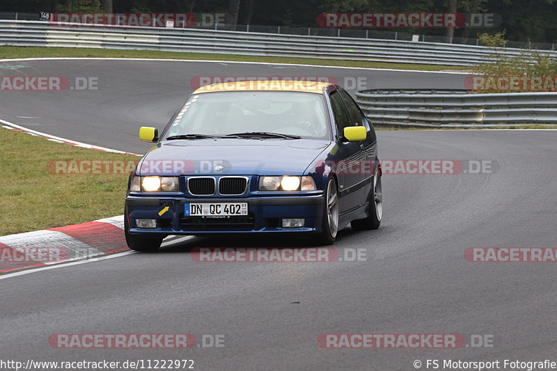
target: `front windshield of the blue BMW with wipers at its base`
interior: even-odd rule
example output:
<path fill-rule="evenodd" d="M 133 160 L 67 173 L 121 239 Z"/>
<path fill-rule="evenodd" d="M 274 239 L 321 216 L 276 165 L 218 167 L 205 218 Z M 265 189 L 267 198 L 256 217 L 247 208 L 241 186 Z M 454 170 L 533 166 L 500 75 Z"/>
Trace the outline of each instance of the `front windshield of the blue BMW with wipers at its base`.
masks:
<path fill-rule="evenodd" d="M 245 132 L 272 132 L 304 139 L 331 138 L 322 95 L 260 91 L 192 95 L 171 123 L 165 138 Z"/>

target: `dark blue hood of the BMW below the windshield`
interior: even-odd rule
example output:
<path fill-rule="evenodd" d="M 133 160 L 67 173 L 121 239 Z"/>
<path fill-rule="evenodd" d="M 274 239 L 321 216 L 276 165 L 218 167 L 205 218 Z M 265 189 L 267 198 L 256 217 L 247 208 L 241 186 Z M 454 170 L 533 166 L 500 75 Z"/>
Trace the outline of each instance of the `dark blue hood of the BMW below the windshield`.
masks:
<path fill-rule="evenodd" d="M 330 141 L 310 139 L 162 141 L 147 152 L 137 172 L 139 175 L 159 172 L 168 175 L 303 175 L 330 144 Z M 215 171 L 218 166 L 223 169 Z"/>

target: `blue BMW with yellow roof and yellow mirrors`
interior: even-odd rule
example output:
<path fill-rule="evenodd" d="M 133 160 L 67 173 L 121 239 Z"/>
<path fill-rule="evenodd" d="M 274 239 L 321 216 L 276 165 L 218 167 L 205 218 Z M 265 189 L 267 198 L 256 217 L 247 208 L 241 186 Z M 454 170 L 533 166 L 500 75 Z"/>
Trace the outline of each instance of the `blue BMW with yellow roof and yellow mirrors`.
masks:
<path fill-rule="evenodd" d="M 168 235 L 315 234 L 379 228 L 377 137 L 343 88 L 315 81 L 203 86 L 130 174 L 125 237 L 155 251 Z"/>

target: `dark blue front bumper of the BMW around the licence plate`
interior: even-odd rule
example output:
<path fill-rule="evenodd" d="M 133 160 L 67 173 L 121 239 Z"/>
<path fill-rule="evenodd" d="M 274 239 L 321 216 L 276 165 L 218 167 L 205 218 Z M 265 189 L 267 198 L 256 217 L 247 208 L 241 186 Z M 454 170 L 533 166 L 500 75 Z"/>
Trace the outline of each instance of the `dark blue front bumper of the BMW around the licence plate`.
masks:
<path fill-rule="evenodd" d="M 248 198 L 127 196 L 125 208 L 126 217 L 129 218 L 130 233 L 206 235 L 223 232 L 320 232 L 323 200 L 322 194 Z M 185 203 L 225 202 L 247 203 L 248 216 L 214 218 L 184 215 Z M 282 228 L 283 218 L 304 218 L 304 226 Z M 157 228 L 137 228 L 135 219 L 156 219 Z"/>

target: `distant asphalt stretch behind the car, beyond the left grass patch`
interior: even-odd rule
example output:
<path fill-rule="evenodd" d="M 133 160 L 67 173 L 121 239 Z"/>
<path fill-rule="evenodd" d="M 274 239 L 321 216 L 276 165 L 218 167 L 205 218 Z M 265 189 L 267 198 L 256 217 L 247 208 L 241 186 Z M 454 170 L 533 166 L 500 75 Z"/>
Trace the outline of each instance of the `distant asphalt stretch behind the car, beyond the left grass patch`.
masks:
<path fill-rule="evenodd" d="M 361 86 L 370 89 L 408 88 L 409 83 L 411 87 L 463 88 L 466 77 L 466 74 L 226 62 L 55 60 L 2 65 L 26 66 L 17 70 L 0 68 L 2 76 L 62 76 L 68 77 L 72 85 L 75 77 L 97 82 L 97 90 L 3 91 L 2 120 L 66 139 L 138 153 L 149 148 L 148 143 L 137 140 L 139 127 L 162 129 L 194 90 L 191 83 L 198 81 L 196 77 L 331 77 L 341 85 L 345 79 L 356 84 L 360 78 L 361 84 L 365 84 Z"/>

